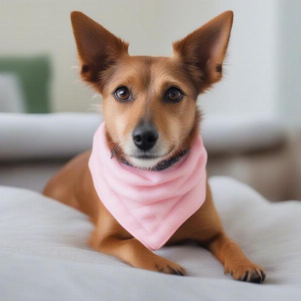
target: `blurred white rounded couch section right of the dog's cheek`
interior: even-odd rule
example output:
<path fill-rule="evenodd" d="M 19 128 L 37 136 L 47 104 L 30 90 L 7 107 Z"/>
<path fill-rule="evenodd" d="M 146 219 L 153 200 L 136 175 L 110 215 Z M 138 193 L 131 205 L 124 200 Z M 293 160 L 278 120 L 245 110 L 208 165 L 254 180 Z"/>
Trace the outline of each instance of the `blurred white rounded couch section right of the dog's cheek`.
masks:
<path fill-rule="evenodd" d="M 282 145 L 287 137 L 280 120 L 263 115 L 208 115 L 201 133 L 211 155 L 269 150 Z"/>

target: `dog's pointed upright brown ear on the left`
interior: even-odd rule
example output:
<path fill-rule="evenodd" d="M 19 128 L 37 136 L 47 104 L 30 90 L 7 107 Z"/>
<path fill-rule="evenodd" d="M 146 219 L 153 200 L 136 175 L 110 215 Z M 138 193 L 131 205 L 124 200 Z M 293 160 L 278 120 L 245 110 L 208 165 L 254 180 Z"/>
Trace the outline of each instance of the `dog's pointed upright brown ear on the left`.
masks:
<path fill-rule="evenodd" d="M 101 90 L 102 72 L 128 55 L 128 44 L 81 12 L 71 13 L 81 76 Z"/>

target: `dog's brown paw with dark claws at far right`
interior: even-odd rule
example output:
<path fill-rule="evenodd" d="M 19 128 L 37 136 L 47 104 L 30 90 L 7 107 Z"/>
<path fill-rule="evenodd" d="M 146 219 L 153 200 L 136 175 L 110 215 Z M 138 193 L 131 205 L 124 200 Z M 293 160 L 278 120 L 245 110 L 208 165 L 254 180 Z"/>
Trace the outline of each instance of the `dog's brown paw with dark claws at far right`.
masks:
<path fill-rule="evenodd" d="M 262 283 L 265 279 L 263 268 L 256 264 L 238 265 L 232 269 L 225 267 L 225 274 L 231 274 L 236 280 L 252 283 Z"/>

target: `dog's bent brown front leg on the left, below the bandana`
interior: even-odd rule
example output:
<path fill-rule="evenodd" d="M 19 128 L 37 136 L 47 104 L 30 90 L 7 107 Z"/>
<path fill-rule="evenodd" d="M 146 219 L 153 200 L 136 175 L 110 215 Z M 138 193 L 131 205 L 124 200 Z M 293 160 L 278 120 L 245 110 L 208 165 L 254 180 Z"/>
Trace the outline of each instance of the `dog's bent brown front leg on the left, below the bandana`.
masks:
<path fill-rule="evenodd" d="M 105 208 L 101 210 L 90 244 L 93 249 L 115 256 L 133 267 L 167 274 L 186 274 L 181 265 L 156 255 L 133 238 Z"/>

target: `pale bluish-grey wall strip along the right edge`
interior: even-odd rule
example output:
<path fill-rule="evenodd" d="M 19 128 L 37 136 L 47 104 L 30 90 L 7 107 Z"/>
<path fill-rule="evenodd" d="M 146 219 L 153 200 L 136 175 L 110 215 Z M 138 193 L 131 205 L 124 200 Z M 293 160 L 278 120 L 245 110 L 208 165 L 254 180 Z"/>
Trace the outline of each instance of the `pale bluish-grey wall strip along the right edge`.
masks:
<path fill-rule="evenodd" d="M 278 114 L 286 123 L 301 124 L 301 1 L 277 7 L 276 85 Z"/>

